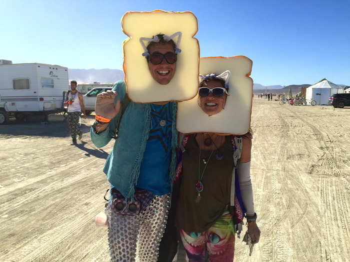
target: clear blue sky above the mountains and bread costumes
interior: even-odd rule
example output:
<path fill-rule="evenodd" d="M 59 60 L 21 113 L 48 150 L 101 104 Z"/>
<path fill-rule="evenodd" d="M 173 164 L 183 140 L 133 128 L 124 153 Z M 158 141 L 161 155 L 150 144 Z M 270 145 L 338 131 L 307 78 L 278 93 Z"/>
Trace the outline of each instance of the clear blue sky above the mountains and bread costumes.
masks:
<path fill-rule="evenodd" d="M 201 56 L 245 55 L 263 85 L 350 85 L 350 0 L 0 0 L 0 59 L 121 69 L 126 11 L 192 11 Z"/>

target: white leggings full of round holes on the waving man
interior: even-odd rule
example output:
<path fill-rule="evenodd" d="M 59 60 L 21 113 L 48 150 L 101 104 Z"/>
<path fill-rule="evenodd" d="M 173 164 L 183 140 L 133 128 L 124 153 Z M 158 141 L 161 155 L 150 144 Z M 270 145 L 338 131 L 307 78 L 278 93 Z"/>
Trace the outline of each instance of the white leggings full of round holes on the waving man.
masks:
<path fill-rule="evenodd" d="M 156 262 L 169 210 L 169 195 L 155 196 L 136 216 L 119 215 L 108 205 L 111 262 Z"/>

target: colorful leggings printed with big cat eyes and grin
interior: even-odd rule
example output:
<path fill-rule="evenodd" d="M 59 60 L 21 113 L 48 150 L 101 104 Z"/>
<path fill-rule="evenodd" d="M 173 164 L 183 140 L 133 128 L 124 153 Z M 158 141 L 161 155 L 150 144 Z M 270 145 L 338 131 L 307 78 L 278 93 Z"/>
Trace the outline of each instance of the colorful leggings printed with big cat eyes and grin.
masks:
<path fill-rule="evenodd" d="M 234 227 L 230 214 L 220 217 L 208 230 L 185 233 L 179 230 L 189 262 L 204 262 L 205 251 L 210 262 L 232 262 L 234 255 Z"/>

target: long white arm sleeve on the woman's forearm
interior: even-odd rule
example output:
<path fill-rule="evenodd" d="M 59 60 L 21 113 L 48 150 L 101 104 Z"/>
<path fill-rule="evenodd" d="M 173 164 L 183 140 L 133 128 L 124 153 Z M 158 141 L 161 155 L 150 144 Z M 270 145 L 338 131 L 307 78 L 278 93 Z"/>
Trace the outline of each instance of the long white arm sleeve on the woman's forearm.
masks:
<path fill-rule="evenodd" d="M 253 189 L 250 180 L 250 161 L 239 163 L 238 182 L 240 194 L 247 214 L 254 214 Z"/>

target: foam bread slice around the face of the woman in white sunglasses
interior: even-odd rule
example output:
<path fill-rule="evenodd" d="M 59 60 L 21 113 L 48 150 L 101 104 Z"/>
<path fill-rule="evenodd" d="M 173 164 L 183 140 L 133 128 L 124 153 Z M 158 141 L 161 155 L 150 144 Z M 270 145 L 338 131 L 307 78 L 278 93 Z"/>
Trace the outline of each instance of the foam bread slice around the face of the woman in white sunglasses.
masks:
<path fill-rule="evenodd" d="M 221 133 L 243 135 L 250 127 L 253 81 L 249 77 L 252 61 L 245 56 L 201 57 L 202 75 L 219 75 L 229 70 L 228 96 L 224 109 L 208 116 L 198 106 L 198 94 L 177 105 L 176 128 L 181 133 Z"/>

